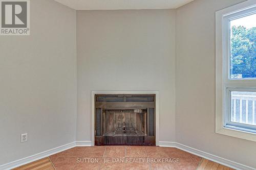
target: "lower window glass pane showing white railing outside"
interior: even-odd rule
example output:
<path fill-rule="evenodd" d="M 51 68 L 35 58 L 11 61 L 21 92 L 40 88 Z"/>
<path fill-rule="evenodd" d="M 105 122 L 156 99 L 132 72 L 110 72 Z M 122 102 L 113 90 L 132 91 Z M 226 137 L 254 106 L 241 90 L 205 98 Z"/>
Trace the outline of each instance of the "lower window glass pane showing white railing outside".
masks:
<path fill-rule="evenodd" d="M 231 122 L 256 125 L 255 104 L 255 91 L 231 91 Z"/>

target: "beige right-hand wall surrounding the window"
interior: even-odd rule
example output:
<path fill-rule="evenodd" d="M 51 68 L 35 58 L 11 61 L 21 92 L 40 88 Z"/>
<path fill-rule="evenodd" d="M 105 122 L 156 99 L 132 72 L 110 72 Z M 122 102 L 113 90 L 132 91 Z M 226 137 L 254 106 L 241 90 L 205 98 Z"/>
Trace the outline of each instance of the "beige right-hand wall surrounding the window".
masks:
<path fill-rule="evenodd" d="M 243 0 L 197 0 L 177 9 L 177 142 L 251 167 L 256 143 L 215 133 L 215 12 Z"/>

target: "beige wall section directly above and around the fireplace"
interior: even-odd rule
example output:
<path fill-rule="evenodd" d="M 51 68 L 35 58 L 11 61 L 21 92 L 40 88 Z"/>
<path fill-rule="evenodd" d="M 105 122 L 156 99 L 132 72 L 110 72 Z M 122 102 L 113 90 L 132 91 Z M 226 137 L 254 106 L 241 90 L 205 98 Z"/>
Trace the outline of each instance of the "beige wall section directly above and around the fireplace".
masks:
<path fill-rule="evenodd" d="M 175 10 L 77 12 L 77 140 L 91 140 L 91 90 L 159 90 L 159 139 L 175 141 Z"/>

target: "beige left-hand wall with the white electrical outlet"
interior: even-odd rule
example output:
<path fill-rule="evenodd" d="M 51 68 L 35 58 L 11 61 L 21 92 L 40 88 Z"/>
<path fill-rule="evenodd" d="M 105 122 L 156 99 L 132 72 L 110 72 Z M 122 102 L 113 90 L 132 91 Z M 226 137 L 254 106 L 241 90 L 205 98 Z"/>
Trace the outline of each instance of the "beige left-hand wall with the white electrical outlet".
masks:
<path fill-rule="evenodd" d="M 76 12 L 52 0 L 30 9 L 30 36 L 0 36 L 0 165 L 75 140 Z"/>

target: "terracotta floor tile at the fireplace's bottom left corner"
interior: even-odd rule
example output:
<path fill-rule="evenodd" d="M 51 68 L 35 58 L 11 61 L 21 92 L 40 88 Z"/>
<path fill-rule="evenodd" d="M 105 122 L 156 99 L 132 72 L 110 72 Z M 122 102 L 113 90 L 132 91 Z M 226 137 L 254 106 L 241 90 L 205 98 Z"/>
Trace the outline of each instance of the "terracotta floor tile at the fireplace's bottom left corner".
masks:
<path fill-rule="evenodd" d="M 103 154 L 105 152 L 106 147 L 105 146 L 98 146 L 98 147 L 86 147 L 83 157 L 103 157 Z"/>

